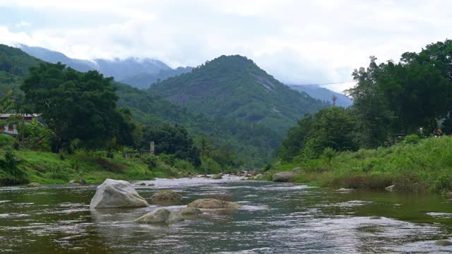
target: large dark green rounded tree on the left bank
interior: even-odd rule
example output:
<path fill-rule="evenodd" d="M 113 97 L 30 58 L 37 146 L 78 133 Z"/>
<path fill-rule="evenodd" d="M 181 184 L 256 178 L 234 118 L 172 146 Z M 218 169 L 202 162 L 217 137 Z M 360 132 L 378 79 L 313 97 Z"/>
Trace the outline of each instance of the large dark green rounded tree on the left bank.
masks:
<path fill-rule="evenodd" d="M 97 71 L 81 73 L 61 63 L 40 63 L 20 85 L 24 103 L 40 113 L 53 133 L 52 150 L 70 147 L 72 140 L 92 149 L 105 147 L 112 138 L 131 142 L 133 125 L 116 107 L 112 78 Z"/>

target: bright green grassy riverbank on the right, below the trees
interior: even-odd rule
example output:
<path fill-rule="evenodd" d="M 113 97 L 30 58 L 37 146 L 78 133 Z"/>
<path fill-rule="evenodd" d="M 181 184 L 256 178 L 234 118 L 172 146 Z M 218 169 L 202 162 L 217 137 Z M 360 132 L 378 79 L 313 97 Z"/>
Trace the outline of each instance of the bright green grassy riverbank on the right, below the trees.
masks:
<path fill-rule="evenodd" d="M 444 193 L 452 191 L 452 137 L 408 138 L 391 147 L 322 155 L 291 164 L 277 162 L 263 179 L 302 167 L 295 181 L 333 188 Z"/>

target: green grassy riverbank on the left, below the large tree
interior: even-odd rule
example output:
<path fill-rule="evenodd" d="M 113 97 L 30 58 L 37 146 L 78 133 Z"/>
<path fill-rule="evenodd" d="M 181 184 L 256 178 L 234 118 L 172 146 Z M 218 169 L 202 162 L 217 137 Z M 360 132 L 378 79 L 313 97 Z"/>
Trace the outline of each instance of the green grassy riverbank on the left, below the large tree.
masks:
<path fill-rule="evenodd" d="M 78 151 L 71 155 L 36 150 L 14 150 L 9 161 L 14 167 L 0 169 L 0 186 L 37 182 L 42 184 L 69 183 L 84 179 L 86 183 L 102 183 L 107 178 L 151 180 L 189 174 L 204 174 L 192 164 L 172 156 L 160 155 L 126 159 L 121 152 Z M 202 171 L 202 172 L 201 172 Z M 208 172 L 215 173 L 215 172 Z"/>

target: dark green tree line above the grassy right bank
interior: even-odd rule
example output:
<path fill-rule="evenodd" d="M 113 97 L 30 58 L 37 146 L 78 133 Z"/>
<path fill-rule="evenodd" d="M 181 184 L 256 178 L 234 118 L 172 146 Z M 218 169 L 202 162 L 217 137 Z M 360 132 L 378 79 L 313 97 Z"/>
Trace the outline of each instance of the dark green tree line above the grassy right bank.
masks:
<path fill-rule="evenodd" d="M 452 134 L 452 40 L 406 52 L 400 61 L 377 63 L 352 73 L 345 91 L 349 109 L 332 107 L 307 114 L 290 129 L 280 159 L 311 159 L 324 152 L 393 145 L 405 135 Z"/>

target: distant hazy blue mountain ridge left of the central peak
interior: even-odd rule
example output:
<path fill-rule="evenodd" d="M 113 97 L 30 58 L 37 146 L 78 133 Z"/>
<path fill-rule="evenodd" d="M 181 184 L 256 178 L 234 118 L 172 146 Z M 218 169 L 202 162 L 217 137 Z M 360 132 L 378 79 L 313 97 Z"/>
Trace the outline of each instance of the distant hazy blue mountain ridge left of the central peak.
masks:
<path fill-rule="evenodd" d="M 164 80 L 166 78 L 174 77 L 182 73 L 191 71 L 191 67 L 170 68 L 166 63 L 156 59 L 139 59 L 136 57 L 129 57 L 126 59 L 93 59 L 91 61 L 82 59 L 71 59 L 68 56 L 54 52 L 43 47 L 30 47 L 24 44 L 19 44 L 19 48 L 35 56 L 37 59 L 42 59 L 50 63 L 61 62 L 77 71 L 96 70 L 107 77 L 114 77 L 121 83 L 126 83 L 138 88 L 148 88 L 151 83 L 157 80 Z"/>

